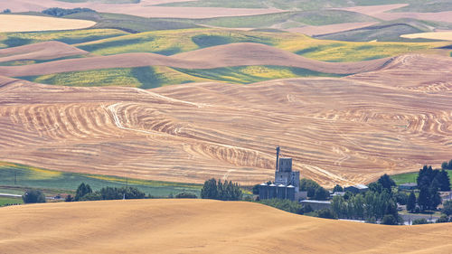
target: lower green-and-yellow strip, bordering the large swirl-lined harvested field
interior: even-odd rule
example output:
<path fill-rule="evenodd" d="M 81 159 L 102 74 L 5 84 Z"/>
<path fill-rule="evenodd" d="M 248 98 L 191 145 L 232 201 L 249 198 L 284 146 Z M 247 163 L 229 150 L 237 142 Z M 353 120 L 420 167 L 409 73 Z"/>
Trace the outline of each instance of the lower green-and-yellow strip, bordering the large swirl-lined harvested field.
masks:
<path fill-rule="evenodd" d="M 18 78 L 42 84 L 71 87 L 121 86 L 152 89 L 167 85 L 205 81 L 248 84 L 275 79 L 339 76 L 284 66 L 236 66 L 215 69 L 179 69 L 163 66 L 145 66 L 73 71 Z"/>

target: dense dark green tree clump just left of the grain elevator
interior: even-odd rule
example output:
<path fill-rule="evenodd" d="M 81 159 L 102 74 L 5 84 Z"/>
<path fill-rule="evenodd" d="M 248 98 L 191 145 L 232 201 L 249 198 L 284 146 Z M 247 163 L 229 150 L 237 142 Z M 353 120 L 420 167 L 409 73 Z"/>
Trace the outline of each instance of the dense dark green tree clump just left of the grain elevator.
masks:
<path fill-rule="evenodd" d="M 223 201 L 238 201 L 241 200 L 242 193 L 238 183 L 232 183 L 231 181 L 221 180 L 217 181 L 215 178 L 205 181 L 201 189 L 202 199 L 214 199 Z"/>

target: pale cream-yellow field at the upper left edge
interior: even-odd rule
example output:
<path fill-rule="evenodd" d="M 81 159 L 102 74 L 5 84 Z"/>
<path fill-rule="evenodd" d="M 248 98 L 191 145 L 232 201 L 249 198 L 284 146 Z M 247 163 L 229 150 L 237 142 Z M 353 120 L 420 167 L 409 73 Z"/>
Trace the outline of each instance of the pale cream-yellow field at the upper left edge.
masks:
<path fill-rule="evenodd" d="M 0 9 L 2 8 L 0 7 Z M 31 15 L 0 14 L 0 32 L 71 30 L 87 28 L 93 26 L 94 24 L 96 23 L 88 20 L 62 19 Z"/>

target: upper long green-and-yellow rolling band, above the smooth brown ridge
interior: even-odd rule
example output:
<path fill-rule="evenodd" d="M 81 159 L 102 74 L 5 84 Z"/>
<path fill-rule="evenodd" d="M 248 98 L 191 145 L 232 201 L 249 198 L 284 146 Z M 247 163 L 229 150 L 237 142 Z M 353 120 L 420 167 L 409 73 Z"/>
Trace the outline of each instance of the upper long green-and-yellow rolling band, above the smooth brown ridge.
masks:
<path fill-rule="evenodd" d="M 76 46 L 97 55 L 126 52 L 173 55 L 237 42 L 267 44 L 319 61 L 367 61 L 446 45 L 445 42 L 339 42 L 317 40 L 298 33 L 194 29 L 130 34 Z"/>

